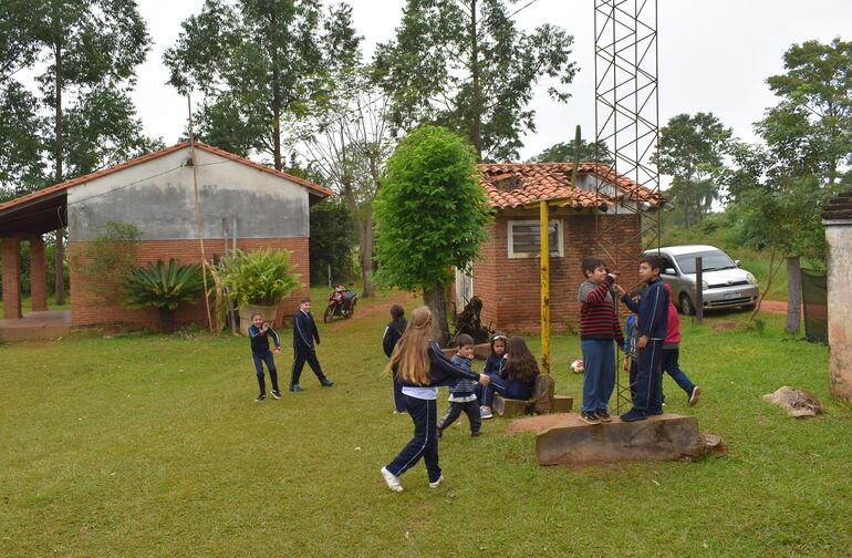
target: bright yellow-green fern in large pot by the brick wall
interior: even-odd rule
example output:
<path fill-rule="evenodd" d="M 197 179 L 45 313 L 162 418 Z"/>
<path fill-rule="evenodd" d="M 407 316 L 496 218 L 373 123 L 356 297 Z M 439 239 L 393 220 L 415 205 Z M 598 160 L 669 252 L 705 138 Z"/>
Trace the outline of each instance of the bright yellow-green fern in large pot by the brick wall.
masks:
<path fill-rule="evenodd" d="M 290 250 L 264 249 L 252 252 L 237 250 L 212 272 L 217 285 L 228 289 L 239 306 L 277 304 L 293 289 L 302 287 L 295 266 L 290 264 Z"/>

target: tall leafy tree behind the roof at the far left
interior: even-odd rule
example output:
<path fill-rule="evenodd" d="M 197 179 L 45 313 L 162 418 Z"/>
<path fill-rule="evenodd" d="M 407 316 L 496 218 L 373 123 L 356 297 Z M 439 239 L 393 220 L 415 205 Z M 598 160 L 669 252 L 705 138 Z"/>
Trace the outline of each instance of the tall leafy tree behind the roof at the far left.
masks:
<path fill-rule="evenodd" d="M 157 142 L 142 135 L 127 95 L 149 49 L 135 0 L 0 2 L 0 185 L 8 189 L 14 184 L 13 194 L 22 194 L 156 147 Z M 24 93 L 15 81 L 24 68 L 41 72 L 35 76 L 38 95 Z M 60 304 L 62 240 L 60 230 Z"/>

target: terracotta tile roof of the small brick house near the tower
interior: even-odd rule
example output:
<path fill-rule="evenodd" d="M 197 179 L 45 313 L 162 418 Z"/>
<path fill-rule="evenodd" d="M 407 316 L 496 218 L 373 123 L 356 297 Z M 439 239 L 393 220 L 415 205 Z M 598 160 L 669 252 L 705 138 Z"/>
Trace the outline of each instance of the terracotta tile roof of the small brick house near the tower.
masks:
<path fill-rule="evenodd" d="M 599 197 L 594 190 L 575 188 L 571 184 L 571 163 L 482 163 L 482 186 L 488 193 L 491 207 L 506 209 L 528 204 L 553 200 L 555 205 L 573 208 L 594 208 L 612 204 L 612 198 Z M 664 203 L 663 196 L 640 186 L 626 176 L 615 175 L 607 165 L 581 163 L 580 175 L 595 174 L 625 195 L 624 200 L 648 202 L 652 206 Z"/>

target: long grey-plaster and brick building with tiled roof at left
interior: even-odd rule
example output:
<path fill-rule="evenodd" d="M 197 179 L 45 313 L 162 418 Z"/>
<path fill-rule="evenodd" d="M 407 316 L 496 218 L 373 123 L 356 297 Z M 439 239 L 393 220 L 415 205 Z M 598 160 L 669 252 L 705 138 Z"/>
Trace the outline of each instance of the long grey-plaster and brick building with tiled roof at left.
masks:
<path fill-rule="evenodd" d="M 225 240 L 237 248 L 287 248 L 293 251 L 303 289 L 279 309 L 279 321 L 308 294 L 310 282 L 309 207 L 331 190 L 302 178 L 195 144 L 202 236 L 208 260 L 224 255 Z M 41 235 L 67 227 L 71 262 L 71 323 L 153 326 L 156 313 L 104 307 L 77 272 L 75 257 L 110 221 L 136 226 L 142 232 L 137 264 L 177 258 L 200 262 L 189 142 L 137 157 L 0 204 L 3 308 L 6 318 L 21 317 L 20 242 L 30 240 L 33 311 L 46 309 L 44 242 Z M 206 322 L 204 304 L 181 308 L 178 323 Z"/>

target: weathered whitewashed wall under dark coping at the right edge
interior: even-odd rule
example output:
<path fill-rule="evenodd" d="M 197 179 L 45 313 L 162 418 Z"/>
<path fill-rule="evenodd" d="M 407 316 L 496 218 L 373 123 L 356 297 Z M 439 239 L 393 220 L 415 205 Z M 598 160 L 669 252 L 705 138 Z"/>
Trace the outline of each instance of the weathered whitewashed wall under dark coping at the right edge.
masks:
<path fill-rule="evenodd" d="M 852 220 L 827 220 L 831 394 L 852 402 Z"/>

